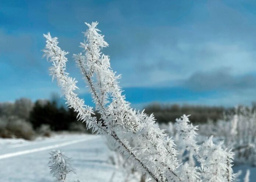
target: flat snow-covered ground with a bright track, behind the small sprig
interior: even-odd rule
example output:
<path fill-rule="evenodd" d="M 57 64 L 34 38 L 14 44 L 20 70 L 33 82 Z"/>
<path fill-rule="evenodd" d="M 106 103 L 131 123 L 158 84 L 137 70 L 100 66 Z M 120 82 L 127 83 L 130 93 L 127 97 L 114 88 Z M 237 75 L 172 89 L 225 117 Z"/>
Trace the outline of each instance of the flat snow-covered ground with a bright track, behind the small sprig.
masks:
<path fill-rule="evenodd" d="M 70 182 L 109 182 L 116 170 L 109 163 L 110 151 L 100 136 L 59 134 L 34 141 L 0 139 L 0 182 L 54 182 L 47 164 L 51 149 L 63 150 L 72 157 L 77 175 L 71 174 Z M 256 168 L 242 165 L 235 166 L 234 171 L 242 169 L 243 179 L 247 168 L 251 171 L 250 182 L 256 181 Z M 122 181 L 121 174 L 115 174 L 113 181 Z"/>

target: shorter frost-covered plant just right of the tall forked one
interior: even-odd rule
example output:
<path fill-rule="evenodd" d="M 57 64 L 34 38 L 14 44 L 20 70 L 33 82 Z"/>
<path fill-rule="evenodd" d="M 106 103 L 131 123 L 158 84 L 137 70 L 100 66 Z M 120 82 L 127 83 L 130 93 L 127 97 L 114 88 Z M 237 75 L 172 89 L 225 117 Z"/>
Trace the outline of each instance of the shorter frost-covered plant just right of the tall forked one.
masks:
<path fill-rule="evenodd" d="M 198 126 L 193 126 L 189 121 L 189 115 L 183 115 L 176 119 L 175 128 L 179 136 L 178 148 L 182 155 L 186 152 L 188 162 L 181 168 L 181 176 L 184 181 L 205 182 L 231 182 L 234 180 L 232 170 L 231 151 L 223 150 L 223 142 L 213 143 L 213 136 L 206 139 L 202 145 L 196 142 Z M 194 158 L 200 164 L 195 166 Z"/>

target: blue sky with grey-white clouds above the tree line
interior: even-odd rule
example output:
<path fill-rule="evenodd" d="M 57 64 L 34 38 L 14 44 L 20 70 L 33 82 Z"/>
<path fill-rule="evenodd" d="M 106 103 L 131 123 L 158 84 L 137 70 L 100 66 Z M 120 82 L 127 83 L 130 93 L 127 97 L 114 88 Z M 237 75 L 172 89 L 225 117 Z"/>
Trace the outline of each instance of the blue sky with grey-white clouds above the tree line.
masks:
<path fill-rule="evenodd" d="M 92 21 L 134 106 L 256 100 L 255 1 L 0 0 L 0 102 L 60 93 L 42 59 L 47 32 L 70 52 L 67 70 L 90 102 L 72 54 Z"/>

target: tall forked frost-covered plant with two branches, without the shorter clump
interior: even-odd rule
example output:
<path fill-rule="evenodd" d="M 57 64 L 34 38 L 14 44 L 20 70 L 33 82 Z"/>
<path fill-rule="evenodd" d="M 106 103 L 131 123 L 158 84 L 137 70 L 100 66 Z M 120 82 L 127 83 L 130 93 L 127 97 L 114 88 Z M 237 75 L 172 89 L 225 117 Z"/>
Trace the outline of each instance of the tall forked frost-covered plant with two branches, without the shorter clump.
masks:
<path fill-rule="evenodd" d="M 136 167 L 142 167 L 155 181 L 164 181 L 166 178 L 170 178 L 171 181 L 177 178 L 174 171 L 178 167 L 178 161 L 173 140 L 165 139 L 166 134 L 154 124 L 153 115 L 136 112 L 125 101 L 118 86 L 117 79 L 120 76 L 116 76 L 110 68 L 109 57 L 101 56 L 100 49 L 106 47 L 107 43 L 96 29 L 97 22 L 87 25 L 89 26 L 89 30 L 85 32 L 87 41 L 81 44 L 86 54 L 83 56 L 80 53 L 74 57 L 89 85 L 96 109 L 102 115 L 103 122 L 97 121 L 93 116 L 92 107 L 86 106 L 74 93 L 77 89 L 75 85 L 77 81 L 65 72 L 67 52 L 57 46 L 57 38 L 51 38 L 49 33 L 45 35 L 47 39 L 45 55 L 47 58 L 50 57 L 53 63 L 50 72 L 63 89 L 68 106 L 78 112 L 78 119 L 86 121 L 87 127 L 92 128 L 93 132 L 110 135 L 115 139 L 120 152 L 137 161 Z M 131 147 L 127 142 L 127 136 L 132 140 L 140 141 L 140 148 Z"/>

